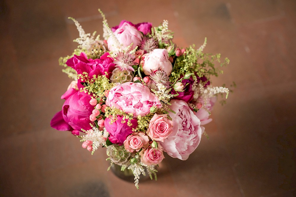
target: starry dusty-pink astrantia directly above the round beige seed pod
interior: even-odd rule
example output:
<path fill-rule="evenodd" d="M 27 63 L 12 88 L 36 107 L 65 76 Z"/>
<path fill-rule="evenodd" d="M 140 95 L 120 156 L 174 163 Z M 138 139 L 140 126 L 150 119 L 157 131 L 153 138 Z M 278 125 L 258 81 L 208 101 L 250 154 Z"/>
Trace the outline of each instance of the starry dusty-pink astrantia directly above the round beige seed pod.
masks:
<path fill-rule="evenodd" d="M 115 57 L 116 61 L 113 63 L 115 67 L 121 71 L 130 70 L 134 72 L 135 69 L 133 69 L 133 65 L 136 64 L 134 63 L 135 58 L 136 56 L 134 54 L 120 52 L 117 57 Z"/>

